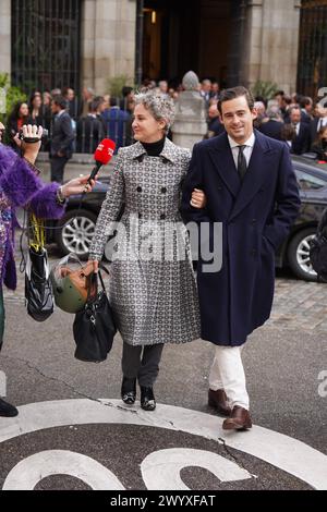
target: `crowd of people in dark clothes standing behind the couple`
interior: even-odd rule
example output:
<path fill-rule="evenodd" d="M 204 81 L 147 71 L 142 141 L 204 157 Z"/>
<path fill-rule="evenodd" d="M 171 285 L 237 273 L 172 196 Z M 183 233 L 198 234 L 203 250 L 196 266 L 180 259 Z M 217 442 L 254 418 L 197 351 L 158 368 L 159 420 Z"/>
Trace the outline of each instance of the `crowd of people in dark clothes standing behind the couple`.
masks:
<path fill-rule="evenodd" d="M 158 92 L 174 101 L 183 90 L 182 84 L 170 87 L 166 80 L 158 83 L 145 80 L 142 87 Z M 225 131 L 217 108 L 220 88 L 217 81 L 205 78 L 198 85 L 198 89 L 205 102 L 208 124 L 206 138 L 209 138 Z M 57 106 L 62 105 L 62 108 L 52 108 L 56 101 Z M 104 137 L 113 139 L 118 151 L 120 147 L 133 143 L 134 107 L 135 93 L 129 86 L 122 87 L 120 97 L 112 97 L 109 94 L 99 96 L 90 87 L 84 87 L 81 99 L 72 87 L 55 88 L 44 93 L 34 90 L 28 101 L 17 102 L 10 113 L 7 139 L 16 150 L 15 134 L 23 124 L 32 123 L 48 130 L 49 139 L 44 144 L 44 149 L 49 150 L 55 160 L 63 159 L 64 156 L 66 161 L 73 153 L 94 153 Z M 314 100 L 307 96 L 300 94 L 290 96 L 283 90 L 278 90 L 269 100 L 257 96 L 255 108 L 258 114 L 254 126 L 262 133 L 284 141 L 290 151 L 295 155 L 314 153 L 319 160 L 327 160 L 327 108 L 320 102 L 314 103 Z M 53 132 L 57 132 L 57 139 L 58 132 L 62 132 L 61 127 L 56 130 L 59 110 L 65 112 L 62 118 L 65 120 L 62 138 L 68 141 L 65 147 L 59 151 L 61 156 L 56 154 L 56 149 L 51 151 Z M 59 118 L 61 115 L 59 114 Z M 58 173 L 57 169 L 62 168 L 63 160 L 60 162 L 57 160 L 52 178 L 60 181 L 62 173 L 61 170 Z"/>

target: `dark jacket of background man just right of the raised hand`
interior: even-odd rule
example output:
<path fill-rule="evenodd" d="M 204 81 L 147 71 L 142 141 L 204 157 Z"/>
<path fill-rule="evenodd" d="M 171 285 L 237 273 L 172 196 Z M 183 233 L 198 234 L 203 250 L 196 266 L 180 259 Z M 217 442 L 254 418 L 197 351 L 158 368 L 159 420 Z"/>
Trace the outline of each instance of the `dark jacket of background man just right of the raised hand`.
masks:
<path fill-rule="evenodd" d="M 72 127 L 72 120 L 68 112 L 55 117 L 51 136 L 50 156 L 57 156 L 58 151 L 66 158 L 73 154 L 73 143 L 75 134 Z"/>

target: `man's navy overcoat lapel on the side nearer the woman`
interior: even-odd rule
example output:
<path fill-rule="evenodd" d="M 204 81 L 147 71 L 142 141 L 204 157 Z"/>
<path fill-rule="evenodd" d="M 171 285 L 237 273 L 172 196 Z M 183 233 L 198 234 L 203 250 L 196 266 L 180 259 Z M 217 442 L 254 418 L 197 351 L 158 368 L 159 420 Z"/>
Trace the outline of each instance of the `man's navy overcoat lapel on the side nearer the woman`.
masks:
<path fill-rule="evenodd" d="M 211 162 L 230 193 L 237 197 L 241 182 L 234 164 L 227 134 L 222 134 L 217 137 L 216 142 L 217 144 L 211 146 L 209 151 Z"/>

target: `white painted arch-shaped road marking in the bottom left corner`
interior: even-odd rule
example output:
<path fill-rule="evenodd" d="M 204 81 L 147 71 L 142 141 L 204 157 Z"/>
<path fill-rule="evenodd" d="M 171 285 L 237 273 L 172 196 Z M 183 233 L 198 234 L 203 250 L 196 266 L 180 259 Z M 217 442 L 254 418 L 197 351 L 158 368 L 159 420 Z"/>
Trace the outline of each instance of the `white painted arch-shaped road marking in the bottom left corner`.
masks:
<path fill-rule="evenodd" d="M 94 490 L 125 490 L 117 476 L 102 464 L 66 450 L 46 450 L 19 462 L 7 476 L 2 490 L 32 490 L 51 475 L 74 476 Z"/>

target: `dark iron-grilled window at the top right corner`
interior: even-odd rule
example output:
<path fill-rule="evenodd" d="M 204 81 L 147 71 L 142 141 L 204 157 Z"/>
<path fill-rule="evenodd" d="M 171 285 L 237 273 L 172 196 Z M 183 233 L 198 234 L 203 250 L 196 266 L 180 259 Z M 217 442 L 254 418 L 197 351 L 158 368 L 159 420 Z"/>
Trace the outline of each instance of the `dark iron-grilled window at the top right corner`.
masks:
<path fill-rule="evenodd" d="M 298 92 L 316 97 L 327 87 L 327 0 L 302 0 Z"/>

